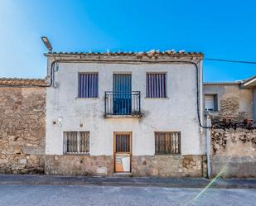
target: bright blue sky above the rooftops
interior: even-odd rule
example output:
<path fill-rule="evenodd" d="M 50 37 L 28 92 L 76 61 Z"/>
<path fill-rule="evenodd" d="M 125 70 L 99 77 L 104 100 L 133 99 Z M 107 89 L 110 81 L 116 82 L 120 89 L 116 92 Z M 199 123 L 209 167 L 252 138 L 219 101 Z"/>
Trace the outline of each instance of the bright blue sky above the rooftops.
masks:
<path fill-rule="evenodd" d="M 55 51 L 201 51 L 256 61 L 256 1 L 0 0 L 0 77 L 44 78 Z M 256 65 L 204 62 L 205 81 L 245 79 Z"/>

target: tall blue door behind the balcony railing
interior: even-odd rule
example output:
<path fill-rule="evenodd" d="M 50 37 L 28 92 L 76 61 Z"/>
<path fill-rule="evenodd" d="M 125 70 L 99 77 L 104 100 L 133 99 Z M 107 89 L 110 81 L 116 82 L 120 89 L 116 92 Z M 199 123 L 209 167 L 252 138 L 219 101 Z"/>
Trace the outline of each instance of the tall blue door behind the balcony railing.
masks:
<path fill-rule="evenodd" d="M 132 113 L 132 74 L 113 74 L 113 113 Z"/>

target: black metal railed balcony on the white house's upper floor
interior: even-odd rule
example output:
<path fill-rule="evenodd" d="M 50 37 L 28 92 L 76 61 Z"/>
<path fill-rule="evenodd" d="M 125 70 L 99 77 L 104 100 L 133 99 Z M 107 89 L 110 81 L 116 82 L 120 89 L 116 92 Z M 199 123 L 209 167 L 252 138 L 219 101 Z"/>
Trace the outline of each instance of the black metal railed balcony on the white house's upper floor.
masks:
<path fill-rule="evenodd" d="M 105 117 L 141 117 L 139 91 L 105 92 Z"/>

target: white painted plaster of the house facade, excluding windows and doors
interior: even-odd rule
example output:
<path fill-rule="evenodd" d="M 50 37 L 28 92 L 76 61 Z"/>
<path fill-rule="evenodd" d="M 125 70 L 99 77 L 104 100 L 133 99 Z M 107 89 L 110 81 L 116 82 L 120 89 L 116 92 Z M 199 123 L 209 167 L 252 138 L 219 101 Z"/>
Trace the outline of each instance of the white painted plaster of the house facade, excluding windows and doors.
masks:
<path fill-rule="evenodd" d="M 78 73 L 89 71 L 99 72 L 99 98 L 77 98 Z M 113 90 L 118 72 L 132 73 L 133 90 L 141 91 L 141 119 L 104 118 L 104 91 Z M 167 98 L 145 98 L 147 72 L 167 72 Z M 181 131 L 182 155 L 205 152 L 196 113 L 195 65 L 60 63 L 56 81 L 59 88 L 47 88 L 46 95 L 46 155 L 62 155 L 65 131 L 89 131 L 92 156 L 113 155 L 114 132 L 133 132 L 133 156 L 154 154 L 157 131 Z M 62 127 L 52 123 L 58 117 Z"/>

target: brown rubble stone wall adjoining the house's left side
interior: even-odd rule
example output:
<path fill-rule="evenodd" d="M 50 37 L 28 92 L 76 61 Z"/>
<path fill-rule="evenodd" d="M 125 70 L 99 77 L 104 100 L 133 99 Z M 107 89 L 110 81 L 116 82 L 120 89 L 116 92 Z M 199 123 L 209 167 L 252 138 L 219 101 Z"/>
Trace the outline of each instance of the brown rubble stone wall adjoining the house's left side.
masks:
<path fill-rule="evenodd" d="M 1 84 L 13 84 L 12 79 L 7 80 L 1 79 Z M 24 82 L 22 84 L 38 84 L 35 80 Z M 43 80 L 40 83 L 43 84 Z M 43 172 L 45 108 L 43 87 L 0 87 L 0 173 Z"/>

